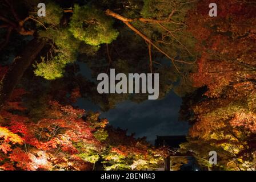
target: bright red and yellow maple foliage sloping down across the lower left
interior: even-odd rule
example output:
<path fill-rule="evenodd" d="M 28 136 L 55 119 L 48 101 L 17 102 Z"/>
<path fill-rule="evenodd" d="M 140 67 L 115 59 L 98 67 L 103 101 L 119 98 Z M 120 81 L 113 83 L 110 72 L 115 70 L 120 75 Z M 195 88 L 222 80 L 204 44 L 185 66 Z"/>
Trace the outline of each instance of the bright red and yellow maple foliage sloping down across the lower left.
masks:
<path fill-rule="evenodd" d="M 107 126 L 98 113 L 47 101 L 42 117 L 27 115 L 24 89 L 15 89 L 0 112 L 0 169 L 93 170 L 153 167 L 165 155 L 145 139 Z M 79 96 L 73 90 L 70 99 Z"/>

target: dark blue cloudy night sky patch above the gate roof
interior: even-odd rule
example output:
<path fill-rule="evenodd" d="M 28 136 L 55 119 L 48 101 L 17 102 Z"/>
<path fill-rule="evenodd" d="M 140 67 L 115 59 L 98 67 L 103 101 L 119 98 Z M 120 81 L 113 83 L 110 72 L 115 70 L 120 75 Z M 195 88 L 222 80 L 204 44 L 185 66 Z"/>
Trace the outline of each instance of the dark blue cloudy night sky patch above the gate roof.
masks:
<path fill-rule="evenodd" d="M 79 65 L 82 75 L 90 77 L 85 65 Z M 181 101 L 181 98 L 171 91 L 162 100 L 146 100 L 139 104 L 124 101 L 106 113 L 102 113 L 99 106 L 84 99 L 79 99 L 76 105 L 85 110 L 100 111 L 101 118 L 107 118 L 114 127 L 128 129 L 128 133 L 135 133 L 136 137 L 145 136 L 149 142 L 154 143 L 156 135 L 187 134 L 188 123 L 178 121 Z"/>

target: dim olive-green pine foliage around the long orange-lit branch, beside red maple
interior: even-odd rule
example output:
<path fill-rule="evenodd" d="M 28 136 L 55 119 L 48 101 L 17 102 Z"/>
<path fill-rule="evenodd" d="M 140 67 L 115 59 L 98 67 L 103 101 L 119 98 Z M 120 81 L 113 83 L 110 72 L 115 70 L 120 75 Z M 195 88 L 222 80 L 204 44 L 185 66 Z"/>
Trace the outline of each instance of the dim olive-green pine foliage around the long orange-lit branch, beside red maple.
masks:
<path fill-rule="evenodd" d="M 145 23 L 136 23 L 135 26 L 140 27 L 139 29 L 143 30 L 152 40 L 161 40 L 161 43 L 164 42 L 163 45 L 159 44 L 159 46 L 171 57 L 178 56 L 180 59 L 193 61 L 195 40 L 186 31 L 186 25 L 183 24 L 186 14 L 193 6 L 194 4 L 192 2 L 186 0 L 145 0 L 141 10 L 143 18 L 171 21 L 161 23 L 165 28 L 154 23 L 147 26 L 145 26 Z"/>

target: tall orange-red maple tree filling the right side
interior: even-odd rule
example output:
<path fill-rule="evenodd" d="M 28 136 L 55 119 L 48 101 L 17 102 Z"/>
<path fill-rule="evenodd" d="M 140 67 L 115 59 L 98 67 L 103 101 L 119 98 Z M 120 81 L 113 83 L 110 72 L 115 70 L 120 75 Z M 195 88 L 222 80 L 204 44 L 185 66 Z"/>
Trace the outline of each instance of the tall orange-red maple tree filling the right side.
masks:
<path fill-rule="evenodd" d="M 209 3 L 198 3 L 187 19 L 201 52 L 190 79 L 201 89 L 183 99 L 181 113 L 193 126 L 182 148 L 194 151 L 202 166 L 213 167 L 208 154 L 214 150 L 218 168 L 255 169 L 255 5 L 217 1 L 218 16 L 211 18 Z"/>

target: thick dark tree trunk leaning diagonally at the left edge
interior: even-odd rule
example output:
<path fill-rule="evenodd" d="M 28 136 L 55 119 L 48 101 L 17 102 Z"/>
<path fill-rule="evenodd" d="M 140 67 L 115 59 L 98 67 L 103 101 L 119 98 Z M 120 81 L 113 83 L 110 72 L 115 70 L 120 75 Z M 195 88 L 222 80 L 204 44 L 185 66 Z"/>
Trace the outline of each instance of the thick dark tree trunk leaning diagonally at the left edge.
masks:
<path fill-rule="evenodd" d="M 23 73 L 34 61 L 35 57 L 41 52 L 44 46 L 44 40 L 33 39 L 26 45 L 25 49 L 17 55 L 14 63 L 11 64 L 6 75 L 0 81 L 0 110 L 10 98 L 15 86 L 17 86 L 19 80 L 21 80 Z"/>

